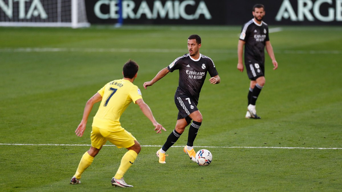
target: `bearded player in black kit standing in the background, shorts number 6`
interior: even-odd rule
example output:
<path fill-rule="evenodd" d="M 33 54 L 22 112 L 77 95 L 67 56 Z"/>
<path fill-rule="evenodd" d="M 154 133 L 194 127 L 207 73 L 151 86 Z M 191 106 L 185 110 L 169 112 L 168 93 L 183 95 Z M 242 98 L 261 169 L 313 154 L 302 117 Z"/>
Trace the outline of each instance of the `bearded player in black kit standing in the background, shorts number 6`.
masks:
<path fill-rule="evenodd" d="M 248 78 L 251 80 L 246 118 L 260 119 L 260 116 L 257 115 L 257 111 L 255 110 L 255 102 L 265 84 L 265 47 L 269 57 L 272 59 L 273 70 L 278 68 L 278 63 L 274 57 L 271 42 L 269 42 L 268 26 L 262 21 L 265 15 L 264 5 L 254 5 L 252 14 L 254 18 L 242 26 L 237 51 L 237 69 L 241 72 L 244 71 L 242 54 L 245 45 L 245 66 Z"/>

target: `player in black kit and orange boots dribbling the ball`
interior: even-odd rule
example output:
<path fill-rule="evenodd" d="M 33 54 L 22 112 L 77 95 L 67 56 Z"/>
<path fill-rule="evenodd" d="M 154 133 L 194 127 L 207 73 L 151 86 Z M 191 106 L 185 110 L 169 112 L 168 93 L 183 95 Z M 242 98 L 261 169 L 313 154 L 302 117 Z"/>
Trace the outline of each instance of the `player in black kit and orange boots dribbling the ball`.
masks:
<path fill-rule="evenodd" d="M 198 35 L 191 35 L 188 38 L 188 54 L 176 58 L 168 67 L 158 72 L 155 78 L 144 83 L 144 88 L 152 86 L 155 82 L 166 76 L 169 72 L 179 70 L 179 85 L 174 95 L 174 101 L 178 108 L 177 123 L 173 132 L 167 138 L 165 144 L 159 149 L 156 155 L 159 163 L 165 163 L 165 152 L 178 140 L 186 126 L 189 127 L 188 141 L 184 147 L 184 153 L 190 159 L 195 160 L 194 140 L 199 127 L 202 124 L 202 114 L 197 109 L 199 93 L 206 79 L 207 72 L 210 74 L 211 84 L 220 83 L 219 73 L 216 71 L 213 61 L 199 53 L 201 38 Z"/>

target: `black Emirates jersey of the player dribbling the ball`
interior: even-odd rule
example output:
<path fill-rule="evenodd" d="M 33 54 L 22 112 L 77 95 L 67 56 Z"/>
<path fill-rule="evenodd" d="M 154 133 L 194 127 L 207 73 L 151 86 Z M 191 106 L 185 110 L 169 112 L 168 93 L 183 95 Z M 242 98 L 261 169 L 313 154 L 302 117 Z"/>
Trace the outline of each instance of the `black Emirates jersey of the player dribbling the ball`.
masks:
<path fill-rule="evenodd" d="M 199 54 L 197 60 L 190 57 L 189 54 L 178 57 L 168 66 L 168 69 L 170 72 L 179 69 L 179 84 L 175 96 L 188 95 L 197 103 L 207 71 L 210 77 L 219 74 L 211 58 L 202 54 Z"/>

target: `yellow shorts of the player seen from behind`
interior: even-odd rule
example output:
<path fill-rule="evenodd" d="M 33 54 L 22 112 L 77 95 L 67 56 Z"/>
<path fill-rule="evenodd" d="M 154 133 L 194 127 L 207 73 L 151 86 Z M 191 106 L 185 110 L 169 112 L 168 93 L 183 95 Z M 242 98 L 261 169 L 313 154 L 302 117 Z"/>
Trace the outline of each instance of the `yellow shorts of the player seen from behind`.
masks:
<path fill-rule="evenodd" d="M 120 127 L 121 128 L 121 127 Z M 92 132 L 90 133 L 91 146 L 100 149 L 105 143 L 110 141 L 117 148 L 129 148 L 134 145 L 134 141 L 136 141 L 133 135 L 122 128 L 120 131 L 111 131 L 107 129 L 100 129 L 98 127 L 92 128 Z"/>

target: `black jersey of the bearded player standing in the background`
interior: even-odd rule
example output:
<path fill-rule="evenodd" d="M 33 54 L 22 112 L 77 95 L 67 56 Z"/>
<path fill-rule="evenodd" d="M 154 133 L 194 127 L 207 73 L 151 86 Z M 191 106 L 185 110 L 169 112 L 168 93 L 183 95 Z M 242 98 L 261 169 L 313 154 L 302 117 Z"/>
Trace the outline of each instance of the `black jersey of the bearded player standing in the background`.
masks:
<path fill-rule="evenodd" d="M 254 19 L 242 26 L 240 40 L 245 41 L 245 64 L 247 61 L 265 63 L 265 42 L 269 41 L 268 26 L 262 22 L 260 25 Z"/>

